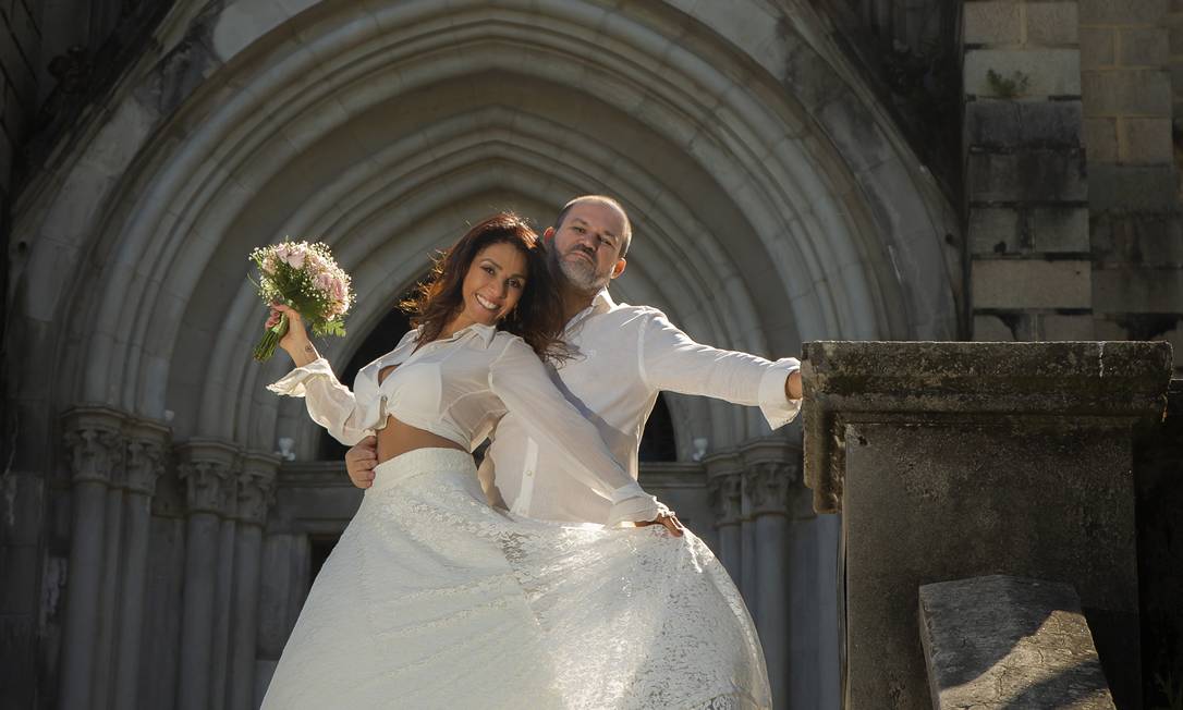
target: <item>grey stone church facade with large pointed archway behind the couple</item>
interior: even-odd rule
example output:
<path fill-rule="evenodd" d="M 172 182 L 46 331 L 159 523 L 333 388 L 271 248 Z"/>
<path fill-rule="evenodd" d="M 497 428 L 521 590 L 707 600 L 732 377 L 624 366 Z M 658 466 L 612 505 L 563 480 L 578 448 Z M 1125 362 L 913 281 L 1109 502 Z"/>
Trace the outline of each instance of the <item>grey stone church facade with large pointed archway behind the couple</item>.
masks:
<path fill-rule="evenodd" d="M 353 275 L 342 373 L 465 225 L 583 193 L 633 219 L 614 297 L 699 342 L 1183 343 L 1165 1 L 4 5 L 6 708 L 258 705 L 361 496 L 251 360 L 246 256 L 285 235 Z M 777 706 L 838 708 L 799 425 L 659 413 L 641 482 L 741 587 Z"/>

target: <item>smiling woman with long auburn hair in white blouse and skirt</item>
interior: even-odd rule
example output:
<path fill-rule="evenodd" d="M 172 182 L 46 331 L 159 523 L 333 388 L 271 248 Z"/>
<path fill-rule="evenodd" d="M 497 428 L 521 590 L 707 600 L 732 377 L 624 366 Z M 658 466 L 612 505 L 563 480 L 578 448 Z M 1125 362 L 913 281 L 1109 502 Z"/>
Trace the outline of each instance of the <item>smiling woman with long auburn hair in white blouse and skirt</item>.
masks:
<path fill-rule="evenodd" d="M 525 222 L 499 213 L 448 250 L 416 328 L 354 392 L 280 312 L 297 367 L 269 388 L 345 445 L 376 431 L 380 463 L 264 708 L 771 706 L 726 572 L 547 376 L 541 359 L 565 354 L 561 299 Z M 510 411 L 612 502 L 603 525 L 487 504 L 471 452 Z"/>

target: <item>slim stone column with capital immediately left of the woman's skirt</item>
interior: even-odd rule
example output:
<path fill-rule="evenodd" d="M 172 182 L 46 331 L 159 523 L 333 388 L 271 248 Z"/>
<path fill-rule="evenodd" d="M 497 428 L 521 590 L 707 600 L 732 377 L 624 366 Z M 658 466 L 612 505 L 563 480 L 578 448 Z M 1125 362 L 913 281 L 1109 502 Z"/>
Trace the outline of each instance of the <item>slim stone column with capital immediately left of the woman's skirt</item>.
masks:
<path fill-rule="evenodd" d="M 274 502 L 279 459 L 247 453 L 238 484 L 238 540 L 234 548 L 234 594 L 231 624 L 230 684 L 226 706 L 254 708 L 254 656 L 259 634 L 259 572 L 263 527 Z"/>

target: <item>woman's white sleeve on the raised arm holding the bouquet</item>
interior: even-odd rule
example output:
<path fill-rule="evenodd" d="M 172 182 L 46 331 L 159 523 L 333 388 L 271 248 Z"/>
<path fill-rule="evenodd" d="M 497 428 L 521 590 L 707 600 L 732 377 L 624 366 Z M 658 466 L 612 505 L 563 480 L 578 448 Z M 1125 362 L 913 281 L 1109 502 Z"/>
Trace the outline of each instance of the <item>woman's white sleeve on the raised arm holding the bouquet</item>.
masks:
<path fill-rule="evenodd" d="M 361 407 L 354 393 L 337 381 L 324 357 L 298 367 L 278 381 L 267 385 L 276 394 L 302 396 L 312 421 L 319 424 L 334 439 L 353 446 L 373 433 L 379 418 L 376 406 Z M 381 398 L 377 398 L 381 401 Z M 376 405 L 377 402 L 375 402 Z"/>

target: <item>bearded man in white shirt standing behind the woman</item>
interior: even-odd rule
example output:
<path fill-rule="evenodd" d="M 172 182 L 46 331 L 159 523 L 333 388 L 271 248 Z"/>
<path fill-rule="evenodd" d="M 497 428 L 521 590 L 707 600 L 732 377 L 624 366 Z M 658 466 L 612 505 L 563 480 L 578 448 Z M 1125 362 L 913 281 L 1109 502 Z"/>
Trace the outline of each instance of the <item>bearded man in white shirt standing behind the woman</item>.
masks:
<path fill-rule="evenodd" d="M 550 369 L 567 399 L 600 431 L 616 462 L 633 478 L 645 421 L 662 390 L 758 405 L 777 428 L 801 407 L 800 363 L 702 346 L 661 311 L 616 304 L 608 283 L 625 271 L 632 225 L 619 202 L 583 195 L 568 202 L 543 233 L 548 258 L 560 277 L 567 328 L 563 340 L 576 355 Z M 530 438 L 510 412 L 492 435 L 480 467 L 490 502 L 532 518 L 601 522 L 612 502 L 563 472 L 561 458 Z M 358 488 L 374 482 L 375 440 L 368 437 L 345 454 Z M 673 535 L 673 514 L 654 521 Z"/>

